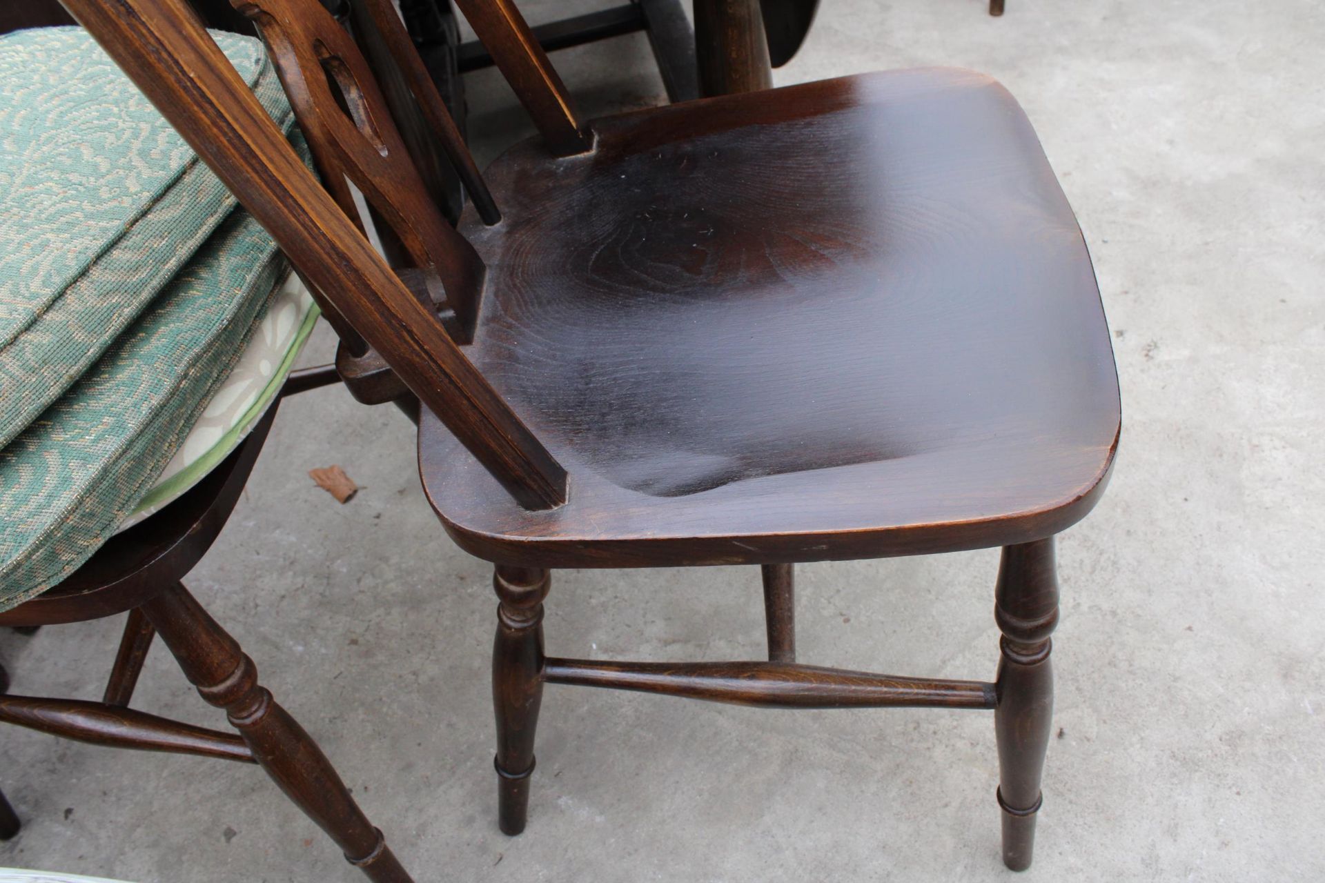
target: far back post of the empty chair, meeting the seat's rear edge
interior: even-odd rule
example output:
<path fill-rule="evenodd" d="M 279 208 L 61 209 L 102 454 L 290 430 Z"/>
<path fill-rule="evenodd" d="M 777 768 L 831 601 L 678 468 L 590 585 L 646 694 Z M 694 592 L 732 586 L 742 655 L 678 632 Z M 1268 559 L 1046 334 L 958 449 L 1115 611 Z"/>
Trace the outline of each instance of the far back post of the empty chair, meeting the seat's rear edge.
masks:
<path fill-rule="evenodd" d="M 456 5 L 534 118 L 549 150 L 556 156 L 588 151 L 592 139 L 580 126 L 566 85 L 514 1 L 456 0 Z"/>

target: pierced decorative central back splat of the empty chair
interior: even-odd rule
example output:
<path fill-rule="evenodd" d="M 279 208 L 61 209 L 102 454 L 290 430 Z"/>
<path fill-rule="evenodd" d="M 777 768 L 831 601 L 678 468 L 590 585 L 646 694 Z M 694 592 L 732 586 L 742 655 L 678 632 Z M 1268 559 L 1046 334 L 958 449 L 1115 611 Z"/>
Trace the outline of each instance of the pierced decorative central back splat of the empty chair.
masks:
<path fill-rule="evenodd" d="M 342 210 L 356 213 L 344 185 L 350 179 L 415 265 L 437 274 L 460 327 L 472 330 L 482 290 L 482 261 L 429 199 L 354 38 L 321 3 L 233 3 L 257 25 L 322 177 Z"/>

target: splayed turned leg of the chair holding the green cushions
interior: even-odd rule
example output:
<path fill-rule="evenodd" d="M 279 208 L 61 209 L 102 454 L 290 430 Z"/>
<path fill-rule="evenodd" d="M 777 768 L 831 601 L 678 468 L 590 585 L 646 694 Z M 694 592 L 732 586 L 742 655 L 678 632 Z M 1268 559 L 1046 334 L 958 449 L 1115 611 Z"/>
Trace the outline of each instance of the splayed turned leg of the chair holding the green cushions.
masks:
<path fill-rule="evenodd" d="M 175 584 L 142 609 L 203 699 L 227 711 L 253 759 L 346 859 L 376 883 L 409 883 L 322 749 L 258 684 L 253 661 L 193 596 Z"/>

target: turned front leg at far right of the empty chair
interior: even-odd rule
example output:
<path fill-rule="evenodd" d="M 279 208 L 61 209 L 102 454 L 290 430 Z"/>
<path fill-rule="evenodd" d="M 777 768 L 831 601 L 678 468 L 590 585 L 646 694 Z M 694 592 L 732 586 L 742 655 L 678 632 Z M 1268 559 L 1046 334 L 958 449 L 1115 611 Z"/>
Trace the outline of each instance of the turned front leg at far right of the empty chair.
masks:
<path fill-rule="evenodd" d="M 996 596 L 994 618 L 1003 638 L 994 729 L 998 735 L 998 802 L 1003 810 L 1003 863 L 1014 871 L 1024 871 L 1031 867 L 1035 850 L 1040 774 L 1053 716 L 1049 634 L 1059 622 L 1053 537 L 1003 549 Z"/>

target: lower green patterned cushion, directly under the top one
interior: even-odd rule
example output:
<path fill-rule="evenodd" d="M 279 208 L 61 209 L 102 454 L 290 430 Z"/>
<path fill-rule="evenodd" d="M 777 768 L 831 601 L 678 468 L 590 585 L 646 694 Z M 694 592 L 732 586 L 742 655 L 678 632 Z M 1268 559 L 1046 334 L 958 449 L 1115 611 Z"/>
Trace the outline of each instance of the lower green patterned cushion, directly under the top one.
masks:
<path fill-rule="evenodd" d="M 0 450 L 0 609 L 60 582 L 134 510 L 260 324 L 288 263 L 242 209 Z"/>

